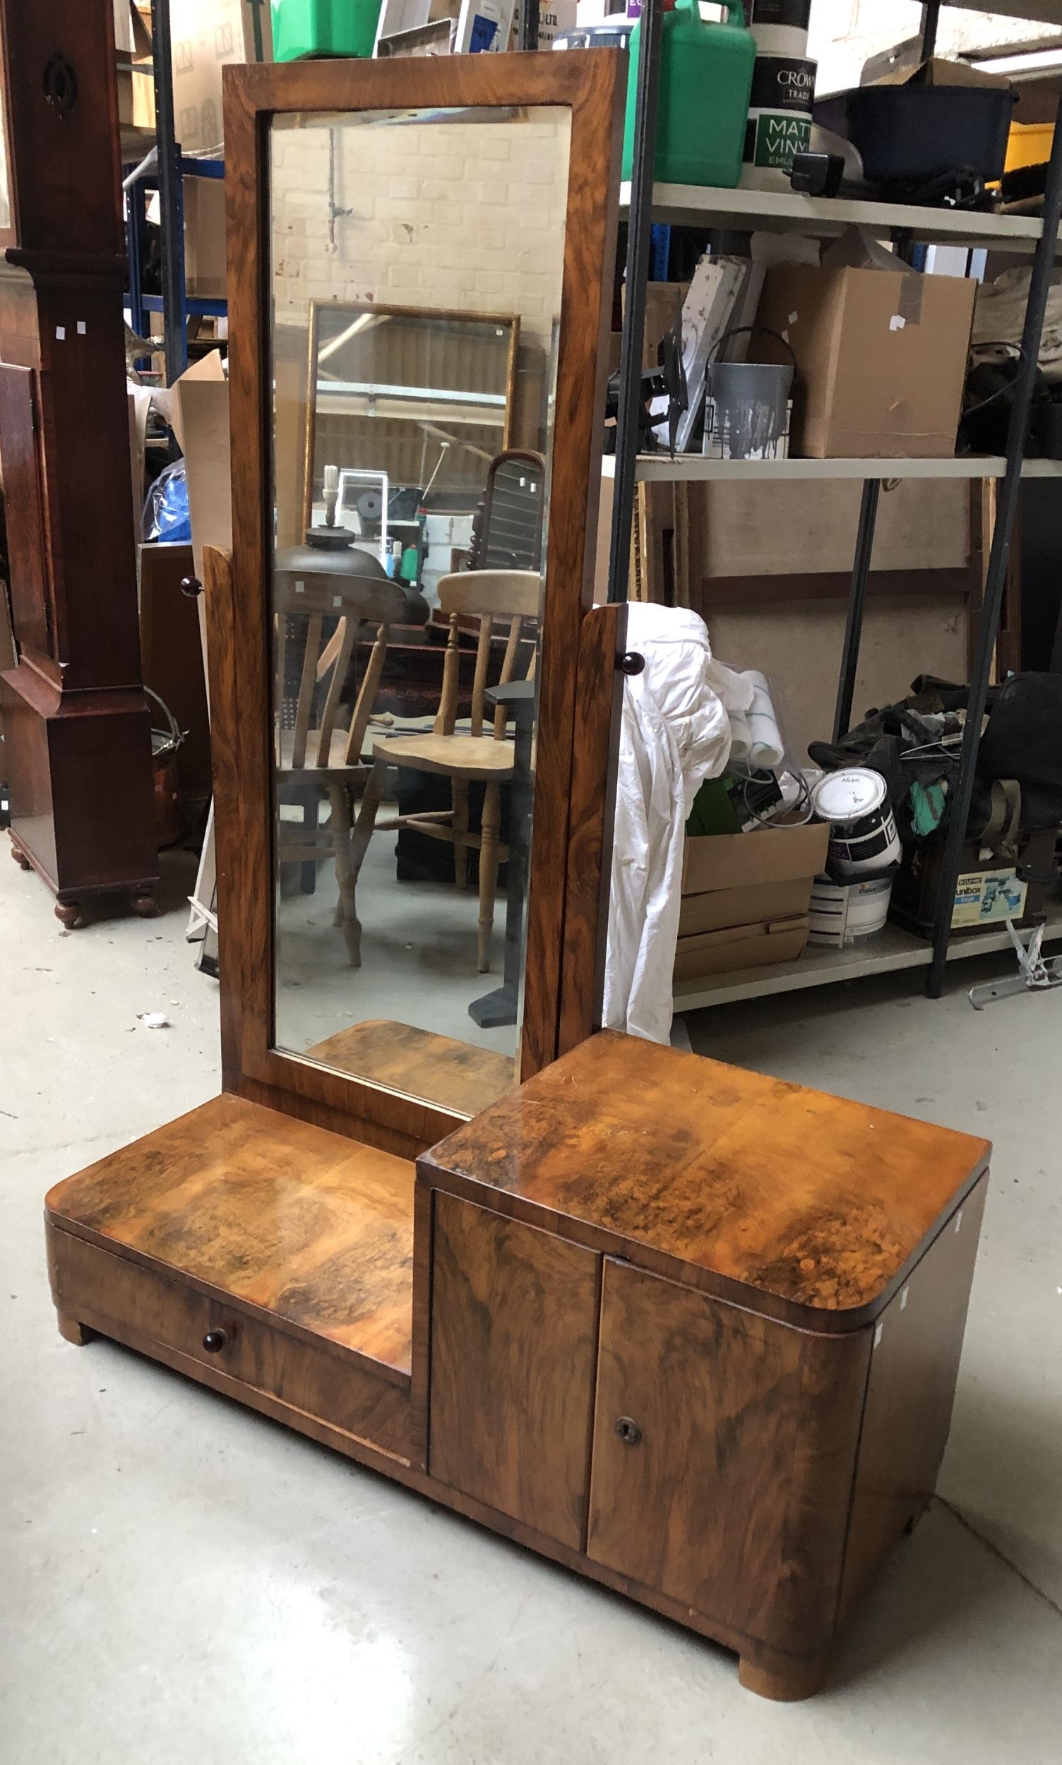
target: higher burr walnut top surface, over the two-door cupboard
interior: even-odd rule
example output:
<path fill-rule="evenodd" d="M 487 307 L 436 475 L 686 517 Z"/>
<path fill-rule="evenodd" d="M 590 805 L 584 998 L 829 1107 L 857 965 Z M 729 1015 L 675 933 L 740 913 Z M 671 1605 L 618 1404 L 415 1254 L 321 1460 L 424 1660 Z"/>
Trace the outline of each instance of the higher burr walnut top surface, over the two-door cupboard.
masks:
<path fill-rule="evenodd" d="M 418 1174 L 483 1184 L 547 1230 L 677 1278 L 692 1267 L 697 1285 L 739 1283 L 750 1304 L 773 1296 L 769 1310 L 838 1329 L 880 1310 L 990 1151 L 603 1031 L 448 1135 Z"/>

